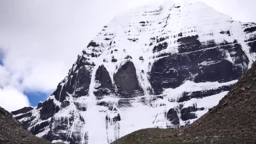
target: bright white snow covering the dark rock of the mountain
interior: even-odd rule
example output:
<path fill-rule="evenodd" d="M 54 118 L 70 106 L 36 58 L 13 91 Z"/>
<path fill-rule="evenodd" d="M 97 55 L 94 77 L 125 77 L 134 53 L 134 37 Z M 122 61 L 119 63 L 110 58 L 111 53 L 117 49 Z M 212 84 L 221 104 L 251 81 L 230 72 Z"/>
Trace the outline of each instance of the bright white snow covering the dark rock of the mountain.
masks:
<path fill-rule="evenodd" d="M 237 40 L 237 43 L 240 43 L 243 51 L 248 56 L 250 67 L 253 61 L 255 61 L 256 55 L 250 52 L 250 48 L 247 45 L 248 42 L 245 41 L 256 34 L 255 32 L 245 34 L 244 29 L 245 26 L 243 23 L 233 21 L 229 16 L 219 13 L 213 8 L 195 0 L 181 0 L 180 3 L 175 4 L 169 2 L 163 5 L 135 8 L 125 14 L 117 16 L 93 38 L 93 42 L 99 44 L 97 50 L 92 46 L 84 49 L 86 53 L 97 51 L 97 57 L 88 57 L 87 60 L 89 63 L 95 64 L 92 68 L 88 96 L 75 98 L 72 94 L 69 94 L 66 100 L 70 102 L 70 105 L 61 108 L 53 118 L 49 118 L 48 120 L 40 120 L 40 109 L 33 109 L 31 112 L 33 116 L 37 118 L 32 121 L 32 125 L 29 129 L 50 120 L 53 121 L 51 128 L 57 128 L 61 125 L 61 121 L 64 119 L 69 120 L 69 118 L 72 117 L 72 123 L 67 124 L 66 130 L 59 130 L 56 133 L 57 135 L 64 133 L 68 137 L 72 135 L 80 137 L 81 141 L 77 141 L 78 144 L 107 144 L 141 128 L 175 127 L 175 125 L 172 125 L 171 122 L 167 120 L 166 113 L 171 108 L 176 109 L 179 107 L 181 103 L 176 100 L 181 97 L 183 92 L 190 93 L 193 91 L 214 90 L 221 86 L 232 85 L 236 83 L 237 80 L 226 83 L 195 83 L 192 80 L 186 80 L 177 88 L 166 88 L 163 94 L 158 95 L 162 97 L 162 99 L 160 99 L 152 93 L 152 87 L 147 75 L 152 68 L 152 64 L 157 61 L 157 59 L 163 58 L 163 56 L 161 57 L 160 55 L 164 53 L 168 53 L 168 55 L 178 53 L 179 43 L 176 41 L 178 40 L 178 35 L 182 33 L 182 37 L 198 35 L 200 42 L 215 40 L 216 43 L 222 43 L 226 40 L 227 43 L 233 43 L 234 40 Z M 224 36 L 220 33 L 221 31 L 227 30 L 229 30 L 230 36 Z M 169 37 L 162 42 L 168 43 L 168 47 L 163 51 L 153 53 L 152 51 L 156 40 L 151 39 L 151 37 L 157 36 Z M 206 49 L 199 51 L 205 50 Z M 80 56 L 82 55 L 83 53 L 80 54 Z M 131 56 L 132 59 L 125 59 L 127 55 Z M 143 56 L 143 60 L 139 59 L 140 56 Z M 84 57 L 87 56 L 84 55 Z M 231 57 L 230 53 L 227 52 L 224 57 L 235 65 L 233 62 L 235 58 Z M 117 62 L 111 62 L 113 58 L 115 58 Z M 119 107 L 118 100 L 120 100 L 120 98 L 116 96 L 104 96 L 103 99 L 97 100 L 96 96 L 93 94 L 93 91 L 95 91 L 94 88 L 98 85 L 95 81 L 97 68 L 100 65 L 104 65 L 109 72 L 112 83 L 115 83 L 113 75 L 126 61 L 133 62 L 136 68 L 139 85 L 144 91 L 144 96 L 128 99 L 131 103 L 129 107 Z M 204 61 L 201 65 L 214 63 L 216 63 L 216 61 Z M 74 64 L 72 67 L 73 71 L 76 67 L 77 65 Z M 65 79 L 67 79 L 67 77 Z M 63 80 L 60 85 L 63 86 L 65 83 L 67 83 L 67 80 Z M 76 88 L 76 90 L 78 89 L 79 88 Z M 193 98 L 182 102 L 182 104 L 184 108 L 192 107 L 193 105 L 196 105 L 197 108 L 204 108 L 204 110 L 195 112 L 195 115 L 199 118 L 205 114 L 209 108 L 218 104 L 219 100 L 227 93 L 228 91 L 223 91 L 212 96 L 203 97 L 202 99 Z M 61 103 L 59 99 L 56 100 L 54 96 L 48 99 L 53 99 L 54 104 L 60 107 Z M 96 103 L 100 101 L 107 102 L 115 110 L 109 110 L 107 107 L 96 105 Z M 77 109 L 75 104 L 78 104 L 80 107 L 85 107 L 86 111 Z M 120 115 L 120 121 L 113 120 L 117 115 Z M 179 112 L 178 115 L 180 117 Z M 197 118 L 187 121 L 183 121 L 180 118 L 180 125 L 193 123 Z M 29 117 L 24 117 L 19 121 L 22 122 L 28 119 Z M 46 126 L 37 136 L 42 137 L 47 134 L 49 130 L 50 127 Z M 67 140 L 63 139 L 54 139 L 53 142 L 57 141 L 69 143 Z"/>

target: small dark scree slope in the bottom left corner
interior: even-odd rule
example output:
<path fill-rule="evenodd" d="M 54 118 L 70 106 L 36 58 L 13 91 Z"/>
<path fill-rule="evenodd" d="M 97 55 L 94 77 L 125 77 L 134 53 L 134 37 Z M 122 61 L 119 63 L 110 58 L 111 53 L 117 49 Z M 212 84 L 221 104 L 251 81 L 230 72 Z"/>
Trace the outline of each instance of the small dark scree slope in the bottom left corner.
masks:
<path fill-rule="evenodd" d="M 0 144 L 51 144 L 28 133 L 18 121 L 0 107 Z"/>

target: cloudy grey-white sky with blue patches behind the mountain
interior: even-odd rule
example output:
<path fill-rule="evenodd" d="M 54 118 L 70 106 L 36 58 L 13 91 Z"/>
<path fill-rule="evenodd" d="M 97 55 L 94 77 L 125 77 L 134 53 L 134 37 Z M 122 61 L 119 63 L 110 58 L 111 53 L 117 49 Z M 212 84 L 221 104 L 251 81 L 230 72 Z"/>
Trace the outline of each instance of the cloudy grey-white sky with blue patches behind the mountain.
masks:
<path fill-rule="evenodd" d="M 0 0 L 0 106 L 36 106 L 115 15 L 164 0 Z M 178 1 L 178 0 L 177 0 Z M 256 22 L 255 0 L 200 0 L 237 21 Z"/>

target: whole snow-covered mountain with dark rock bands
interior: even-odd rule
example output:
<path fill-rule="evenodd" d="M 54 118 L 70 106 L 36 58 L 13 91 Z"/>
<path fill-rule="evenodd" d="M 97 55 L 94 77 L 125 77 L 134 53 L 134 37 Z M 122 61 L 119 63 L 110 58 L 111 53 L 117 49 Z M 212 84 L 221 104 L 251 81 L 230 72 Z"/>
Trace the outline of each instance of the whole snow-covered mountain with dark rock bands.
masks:
<path fill-rule="evenodd" d="M 104 26 L 48 99 L 12 114 L 52 142 L 107 144 L 193 123 L 255 59 L 255 23 L 196 0 L 135 8 Z"/>

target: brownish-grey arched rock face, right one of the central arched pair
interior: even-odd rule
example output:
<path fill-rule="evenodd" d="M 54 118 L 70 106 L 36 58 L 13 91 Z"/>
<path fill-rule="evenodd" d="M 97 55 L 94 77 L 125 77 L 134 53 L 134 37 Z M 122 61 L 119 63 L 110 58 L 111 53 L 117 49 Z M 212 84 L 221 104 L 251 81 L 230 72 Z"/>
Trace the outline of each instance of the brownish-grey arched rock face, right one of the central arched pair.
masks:
<path fill-rule="evenodd" d="M 143 93 L 139 86 L 136 69 L 131 61 L 127 61 L 118 69 L 114 80 L 120 97 L 131 97 L 134 94 L 138 96 Z"/>

